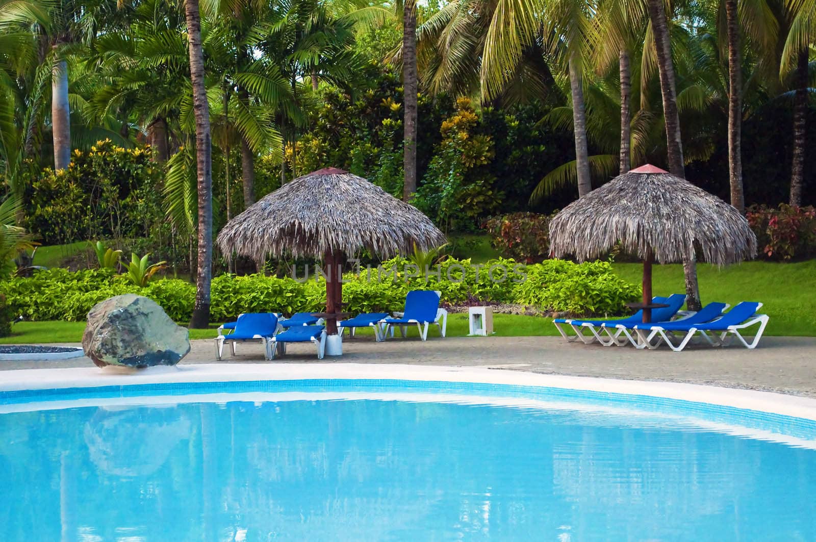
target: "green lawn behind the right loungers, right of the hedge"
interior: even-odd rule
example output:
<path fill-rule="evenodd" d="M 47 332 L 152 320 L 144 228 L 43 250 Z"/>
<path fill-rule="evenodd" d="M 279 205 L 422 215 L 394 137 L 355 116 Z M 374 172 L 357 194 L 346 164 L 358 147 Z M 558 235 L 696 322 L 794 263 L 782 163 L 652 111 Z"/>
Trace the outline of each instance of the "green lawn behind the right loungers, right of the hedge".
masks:
<path fill-rule="evenodd" d="M 643 267 L 614 264 L 614 271 L 640 283 Z M 761 311 L 770 317 L 767 335 L 816 335 L 816 260 L 792 264 L 751 261 L 723 268 L 698 264 L 697 276 L 703 304 L 761 301 Z M 654 295 L 684 292 L 683 266 L 655 265 L 652 283 Z"/>

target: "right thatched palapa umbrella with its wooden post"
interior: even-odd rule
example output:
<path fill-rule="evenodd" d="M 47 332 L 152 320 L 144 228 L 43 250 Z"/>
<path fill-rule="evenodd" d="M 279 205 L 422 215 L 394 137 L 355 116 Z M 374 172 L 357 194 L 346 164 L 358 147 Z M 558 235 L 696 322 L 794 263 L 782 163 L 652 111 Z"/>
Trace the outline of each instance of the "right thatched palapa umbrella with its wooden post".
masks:
<path fill-rule="evenodd" d="M 550 250 L 590 260 L 620 242 L 643 260 L 643 304 L 652 299 L 652 262 L 694 257 L 731 264 L 756 255 L 756 236 L 734 207 L 649 164 L 619 175 L 570 203 L 550 223 Z M 651 310 L 644 309 L 649 322 Z"/>

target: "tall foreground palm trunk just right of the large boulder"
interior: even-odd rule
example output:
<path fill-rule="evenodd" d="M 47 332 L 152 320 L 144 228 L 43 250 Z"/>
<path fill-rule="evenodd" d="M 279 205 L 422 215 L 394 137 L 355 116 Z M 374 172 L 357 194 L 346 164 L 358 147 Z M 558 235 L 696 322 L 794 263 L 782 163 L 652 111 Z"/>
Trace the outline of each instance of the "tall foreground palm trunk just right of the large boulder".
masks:
<path fill-rule="evenodd" d="M 190 78 L 193 82 L 193 112 L 196 117 L 198 172 L 198 270 L 196 301 L 190 327 L 202 329 L 210 323 L 210 282 L 212 279 L 212 142 L 210 108 L 204 87 L 201 16 L 198 0 L 185 0 L 190 47 Z"/>

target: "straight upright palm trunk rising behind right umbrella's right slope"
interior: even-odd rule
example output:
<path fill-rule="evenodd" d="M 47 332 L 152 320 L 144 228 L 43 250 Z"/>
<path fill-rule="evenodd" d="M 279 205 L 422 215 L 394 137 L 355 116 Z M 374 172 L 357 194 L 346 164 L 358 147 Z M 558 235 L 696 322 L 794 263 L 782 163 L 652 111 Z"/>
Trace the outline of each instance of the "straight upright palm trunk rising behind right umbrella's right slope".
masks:
<path fill-rule="evenodd" d="M 743 194 L 743 73 L 739 54 L 737 0 L 725 0 L 728 24 L 728 176 L 731 184 L 731 205 L 745 211 Z"/>

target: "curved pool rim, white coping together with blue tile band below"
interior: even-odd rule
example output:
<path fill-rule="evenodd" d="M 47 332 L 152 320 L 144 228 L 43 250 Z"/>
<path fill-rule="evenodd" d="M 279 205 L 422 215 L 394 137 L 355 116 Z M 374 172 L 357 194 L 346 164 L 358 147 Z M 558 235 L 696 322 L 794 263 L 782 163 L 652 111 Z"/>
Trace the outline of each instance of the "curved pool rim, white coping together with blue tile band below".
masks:
<path fill-rule="evenodd" d="M 415 392 L 581 402 L 703 417 L 816 439 L 816 400 L 696 384 L 540 375 L 483 367 L 211 364 L 122 374 L 88 369 L 7 371 L 0 405 L 207 393 Z"/>

